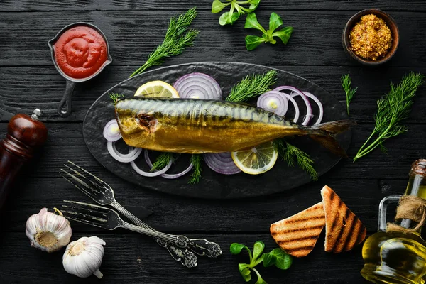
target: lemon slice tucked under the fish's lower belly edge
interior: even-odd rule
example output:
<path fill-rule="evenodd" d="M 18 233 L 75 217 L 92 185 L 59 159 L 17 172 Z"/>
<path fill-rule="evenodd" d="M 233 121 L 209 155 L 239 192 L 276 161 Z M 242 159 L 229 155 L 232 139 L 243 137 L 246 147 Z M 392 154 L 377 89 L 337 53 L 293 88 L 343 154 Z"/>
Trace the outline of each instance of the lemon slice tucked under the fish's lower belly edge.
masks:
<path fill-rule="evenodd" d="M 259 175 L 273 168 L 278 158 L 278 153 L 273 147 L 273 142 L 266 142 L 250 150 L 231 153 L 235 165 L 244 173 Z"/>

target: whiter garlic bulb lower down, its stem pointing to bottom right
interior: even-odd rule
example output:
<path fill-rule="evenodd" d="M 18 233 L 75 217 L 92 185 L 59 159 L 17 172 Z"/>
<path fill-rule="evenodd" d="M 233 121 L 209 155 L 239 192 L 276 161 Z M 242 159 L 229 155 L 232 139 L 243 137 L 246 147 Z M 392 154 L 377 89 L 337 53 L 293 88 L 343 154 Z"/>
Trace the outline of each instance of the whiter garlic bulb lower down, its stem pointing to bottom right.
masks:
<path fill-rule="evenodd" d="M 72 241 L 62 257 L 62 264 L 65 271 L 70 274 L 77 275 L 81 278 L 89 277 L 94 274 L 97 278 L 102 278 L 102 273 L 99 271 L 102 258 L 104 257 L 103 239 L 97 236 L 86 236 Z"/>

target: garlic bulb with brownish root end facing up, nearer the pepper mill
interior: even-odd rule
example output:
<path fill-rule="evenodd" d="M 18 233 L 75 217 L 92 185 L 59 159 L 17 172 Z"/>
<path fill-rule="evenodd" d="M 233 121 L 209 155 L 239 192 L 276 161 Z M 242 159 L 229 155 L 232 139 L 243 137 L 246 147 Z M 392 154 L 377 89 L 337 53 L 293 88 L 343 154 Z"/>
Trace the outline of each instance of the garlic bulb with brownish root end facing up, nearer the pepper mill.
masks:
<path fill-rule="evenodd" d="M 25 234 L 31 241 L 31 246 L 49 253 L 58 251 L 70 243 L 71 226 L 62 213 L 60 215 L 48 212 L 47 208 L 33 214 L 26 222 Z"/>

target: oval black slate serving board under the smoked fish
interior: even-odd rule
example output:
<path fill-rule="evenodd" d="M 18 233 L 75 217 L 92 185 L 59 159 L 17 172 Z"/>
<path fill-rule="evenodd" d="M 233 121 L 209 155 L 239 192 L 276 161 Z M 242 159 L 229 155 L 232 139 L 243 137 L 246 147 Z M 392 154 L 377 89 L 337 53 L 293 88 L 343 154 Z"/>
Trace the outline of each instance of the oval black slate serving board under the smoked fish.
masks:
<path fill-rule="evenodd" d="M 152 80 L 163 80 L 173 84 L 178 77 L 191 73 L 203 72 L 214 77 L 222 87 L 224 97 L 229 94 L 231 87 L 243 77 L 253 73 L 263 73 L 271 70 L 270 67 L 252 65 L 239 62 L 200 62 L 192 64 L 162 67 L 132 77 L 111 89 L 107 90 L 90 107 L 83 124 L 84 141 L 89 151 L 99 163 L 129 182 L 143 188 L 168 192 L 173 195 L 202 198 L 240 198 L 269 195 L 275 192 L 291 190 L 310 182 L 310 177 L 300 168 L 290 168 L 278 160 L 272 170 L 263 175 L 220 175 L 203 165 L 202 180 L 197 185 L 188 185 L 189 175 L 176 180 L 164 178 L 144 178 L 138 175 L 129 164 L 119 163 L 107 151 L 107 141 L 102 131 L 107 121 L 114 119 L 114 104 L 109 98 L 110 93 L 124 94 L 132 97 L 136 89 Z M 303 91 L 315 94 L 324 106 L 323 121 L 347 119 L 346 110 L 340 102 L 321 87 L 288 72 L 278 70 L 276 86 L 292 85 Z M 302 104 L 301 104 L 302 105 Z M 314 114 L 317 113 L 315 104 L 312 105 Z M 301 108 L 301 115 L 303 109 Z M 347 149 L 351 141 L 351 131 L 339 135 L 339 142 Z M 323 175 L 339 162 L 340 158 L 319 146 L 307 137 L 297 137 L 292 140 L 295 146 L 302 148 L 315 160 L 315 168 L 319 175 Z M 141 159 L 141 158 L 139 158 Z"/>

